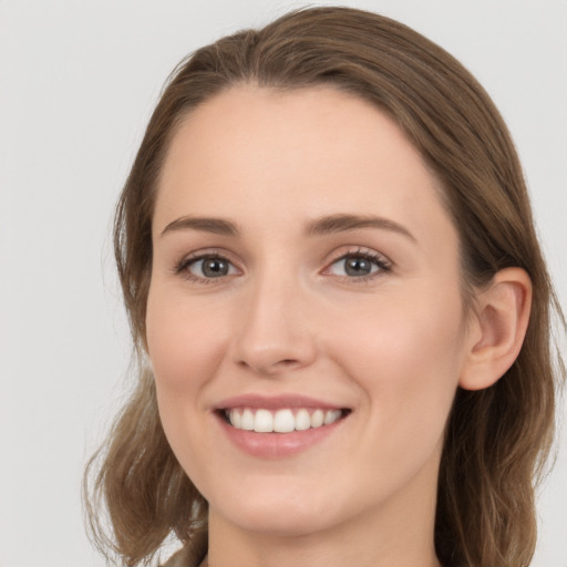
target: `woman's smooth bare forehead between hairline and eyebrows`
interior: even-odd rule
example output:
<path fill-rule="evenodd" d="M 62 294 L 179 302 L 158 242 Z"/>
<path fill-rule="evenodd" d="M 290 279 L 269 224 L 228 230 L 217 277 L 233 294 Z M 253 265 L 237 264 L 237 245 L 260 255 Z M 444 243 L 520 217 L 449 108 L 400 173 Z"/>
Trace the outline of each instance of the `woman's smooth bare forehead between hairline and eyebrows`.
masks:
<path fill-rule="evenodd" d="M 154 224 L 159 229 L 194 214 L 286 226 L 346 213 L 395 217 L 420 229 L 423 217 L 449 223 L 439 195 L 420 153 L 372 104 L 331 87 L 239 85 L 178 127 Z"/>

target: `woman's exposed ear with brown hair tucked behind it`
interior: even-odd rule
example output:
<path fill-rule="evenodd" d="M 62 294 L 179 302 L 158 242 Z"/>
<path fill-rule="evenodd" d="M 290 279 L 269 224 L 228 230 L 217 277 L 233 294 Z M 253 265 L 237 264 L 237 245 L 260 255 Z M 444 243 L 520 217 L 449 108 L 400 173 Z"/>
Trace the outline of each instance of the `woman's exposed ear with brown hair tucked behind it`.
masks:
<path fill-rule="evenodd" d="M 516 360 L 532 308 L 532 281 L 522 268 L 505 268 L 477 296 L 458 385 L 482 390 Z"/>

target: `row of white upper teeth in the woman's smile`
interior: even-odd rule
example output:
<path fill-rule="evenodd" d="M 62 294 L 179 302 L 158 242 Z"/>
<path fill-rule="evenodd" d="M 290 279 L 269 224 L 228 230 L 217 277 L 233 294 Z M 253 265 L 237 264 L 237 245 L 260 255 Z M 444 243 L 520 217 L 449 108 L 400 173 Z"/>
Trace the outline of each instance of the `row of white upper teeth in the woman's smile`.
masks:
<path fill-rule="evenodd" d="M 293 412 L 289 409 L 271 412 L 269 410 L 233 409 L 226 412 L 230 425 L 237 430 L 257 433 L 289 433 L 330 425 L 342 415 L 341 410 L 309 410 L 301 408 Z"/>

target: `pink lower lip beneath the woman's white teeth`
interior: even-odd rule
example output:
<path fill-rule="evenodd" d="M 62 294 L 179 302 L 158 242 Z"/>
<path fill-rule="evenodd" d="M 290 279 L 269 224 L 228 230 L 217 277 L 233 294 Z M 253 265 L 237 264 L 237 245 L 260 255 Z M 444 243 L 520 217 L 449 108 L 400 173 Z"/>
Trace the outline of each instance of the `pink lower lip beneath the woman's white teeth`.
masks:
<path fill-rule="evenodd" d="M 241 451 L 261 458 L 284 458 L 306 451 L 334 433 L 346 417 L 330 425 L 312 427 L 290 433 L 256 433 L 255 431 L 237 430 L 229 425 L 220 415 L 217 421 L 228 439 Z"/>

